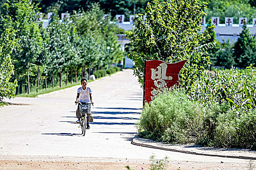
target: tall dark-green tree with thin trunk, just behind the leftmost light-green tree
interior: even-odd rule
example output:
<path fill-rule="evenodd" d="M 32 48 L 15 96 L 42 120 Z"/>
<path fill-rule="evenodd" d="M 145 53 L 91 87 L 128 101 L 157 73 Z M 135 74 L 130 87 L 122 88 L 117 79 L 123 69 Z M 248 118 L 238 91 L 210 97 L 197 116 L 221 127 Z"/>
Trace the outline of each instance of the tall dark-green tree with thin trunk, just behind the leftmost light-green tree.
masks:
<path fill-rule="evenodd" d="M 1 9 L 0 33 L 5 29 L 11 30 L 10 38 L 17 43 L 12 54 L 15 73 L 21 75 L 18 80 L 22 83 L 22 75 L 26 71 L 28 93 L 30 63 L 39 54 L 41 45 L 39 23 L 36 22 L 38 13 L 39 9 L 32 0 L 7 0 Z"/>

